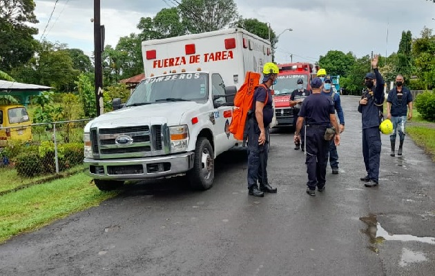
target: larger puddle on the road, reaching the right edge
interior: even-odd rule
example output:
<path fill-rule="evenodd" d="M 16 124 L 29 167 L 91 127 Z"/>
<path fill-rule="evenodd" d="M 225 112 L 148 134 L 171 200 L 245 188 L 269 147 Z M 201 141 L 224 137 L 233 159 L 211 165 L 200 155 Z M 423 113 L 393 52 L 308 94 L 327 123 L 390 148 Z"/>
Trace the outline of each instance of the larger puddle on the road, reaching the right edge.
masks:
<path fill-rule="evenodd" d="M 377 245 L 382 244 L 384 241 L 423 242 L 425 244 L 435 244 L 435 237 L 390 234 L 380 225 L 376 215 L 374 214 L 370 214 L 368 217 L 360 217 L 360 221 L 367 224 L 367 229 L 362 230 L 362 232 L 369 236 L 371 244 L 369 249 L 374 251 L 376 254 L 379 253 Z"/>

